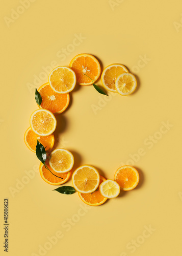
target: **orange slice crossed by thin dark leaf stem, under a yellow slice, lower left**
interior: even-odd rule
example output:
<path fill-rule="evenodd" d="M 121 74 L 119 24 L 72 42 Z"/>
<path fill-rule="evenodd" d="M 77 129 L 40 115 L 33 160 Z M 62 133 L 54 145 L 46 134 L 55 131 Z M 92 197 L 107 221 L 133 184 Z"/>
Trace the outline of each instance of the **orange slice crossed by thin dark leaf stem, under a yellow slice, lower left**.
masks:
<path fill-rule="evenodd" d="M 55 175 L 51 174 L 50 171 L 45 168 L 43 163 L 40 163 L 40 166 L 39 166 L 40 176 L 48 184 L 51 184 L 51 185 L 64 184 L 66 181 L 69 180 L 69 178 L 71 176 L 71 171 L 68 173 L 65 173 L 65 174 L 58 174 L 53 169 L 51 169 L 51 167 L 49 165 L 47 165 L 47 167 L 51 170 L 51 172 L 53 174 L 55 174 L 58 177 L 63 178 L 63 179 L 60 179 L 60 178 L 56 177 Z"/>

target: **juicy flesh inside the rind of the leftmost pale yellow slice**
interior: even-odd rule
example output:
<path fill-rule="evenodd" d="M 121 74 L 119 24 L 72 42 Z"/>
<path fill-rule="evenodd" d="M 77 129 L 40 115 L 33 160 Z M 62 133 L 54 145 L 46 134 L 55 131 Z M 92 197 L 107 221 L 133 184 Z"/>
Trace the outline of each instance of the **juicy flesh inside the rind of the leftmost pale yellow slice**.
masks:
<path fill-rule="evenodd" d="M 55 120 L 49 113 L 41 111 L 34 114 L 32 125 L 39 134 L 47 134 L 54 129 Z"/>

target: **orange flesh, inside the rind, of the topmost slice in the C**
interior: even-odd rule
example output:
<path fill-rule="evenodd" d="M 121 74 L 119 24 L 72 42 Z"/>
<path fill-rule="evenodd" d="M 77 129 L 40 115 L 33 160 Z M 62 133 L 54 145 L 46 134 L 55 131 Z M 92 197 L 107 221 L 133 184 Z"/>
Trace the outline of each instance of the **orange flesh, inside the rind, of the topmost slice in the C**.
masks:
<path fill-rule="evenodd" d="M 77 57 L 72 63 L 71 69 L 76 74 L 77 82 L 90 83 L 92 82 L 91 79 L 94 80 L 95 77 L 98 76 L 98 65 L 94 59 L 89 56 Z M 84 74 L 88 75 L 91 79 Z"/>

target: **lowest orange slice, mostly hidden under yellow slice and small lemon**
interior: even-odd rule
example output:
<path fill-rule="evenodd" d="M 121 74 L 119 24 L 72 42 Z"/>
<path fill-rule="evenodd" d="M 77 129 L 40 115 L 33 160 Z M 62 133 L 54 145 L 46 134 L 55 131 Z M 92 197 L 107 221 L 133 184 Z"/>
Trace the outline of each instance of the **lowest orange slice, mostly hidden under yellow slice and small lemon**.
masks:
<path fill-rule="evenodd" d="M 101 184 L 105 180 L 106 180 L 106 178 L 104 178 L 104 177 L 102 177 L 100 175 L 100 182 L 99 182 L 99 184 Z M 101 204 L 105 203 L 106 200 L 107 200 L 106 197 L 103 197 L 100 194 L 100 191 L 99 191 L 98 188 L 93 193 L 83 194 L 83 193 L 78 192 L 78 194 L 79 194 L 79 197 L 81 198 L 81 200 L 84 203 L 86 203 L 88 205 L 91 205 L 91 206 L 101 205 Z"/>

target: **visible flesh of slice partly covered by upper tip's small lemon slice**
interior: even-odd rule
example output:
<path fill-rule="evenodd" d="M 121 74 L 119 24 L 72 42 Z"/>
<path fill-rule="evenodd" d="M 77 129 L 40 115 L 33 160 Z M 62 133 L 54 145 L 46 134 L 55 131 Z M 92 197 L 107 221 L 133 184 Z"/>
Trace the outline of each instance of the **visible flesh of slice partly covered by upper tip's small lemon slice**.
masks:
<path fill-rule="evenodd" d="M 106 86 L 110 89 L 115 89 L 115 80 L 116 78 L 121 75 L 122 73 L 125 73 L 126 71 L 123 70 L 122 67 L 111 67 L 110 69 L 106 70 L 105 75 L 103 76 L 103 79 L 105 80 Z"/>

